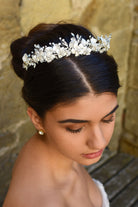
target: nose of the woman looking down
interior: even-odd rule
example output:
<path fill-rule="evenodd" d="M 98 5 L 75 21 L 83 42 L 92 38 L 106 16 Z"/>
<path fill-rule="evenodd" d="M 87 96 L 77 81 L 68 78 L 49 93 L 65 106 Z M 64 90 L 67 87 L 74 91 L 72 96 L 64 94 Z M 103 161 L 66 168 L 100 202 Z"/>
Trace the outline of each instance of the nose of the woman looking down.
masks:
<path fill-rule="evenodd" d="M 89 138 L 87 140 L 87 146 L 90 149 L 104 149 L 107 145 L 107 141 L 103 135 L 100 125 L 95 125 L 91 128 Z"/>

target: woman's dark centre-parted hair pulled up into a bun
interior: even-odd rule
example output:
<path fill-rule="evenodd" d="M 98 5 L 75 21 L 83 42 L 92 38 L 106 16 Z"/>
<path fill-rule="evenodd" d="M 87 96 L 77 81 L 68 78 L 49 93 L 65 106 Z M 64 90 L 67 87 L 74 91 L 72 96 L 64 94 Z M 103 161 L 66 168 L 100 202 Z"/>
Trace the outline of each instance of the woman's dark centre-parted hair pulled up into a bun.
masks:
<path fill-rule="evenodd" d="M 26 71 L 22 67 L 22 56 L 49 42 L 59 42 L 59 37 L 69 42 L 71 33 L 88 39 L 92 33 L 80 25 L 39 24 L 28 34 L 11 44 L 12 65 L 16 74 L 24 80 L 22 95 L 39 116 L 59 103 L 70 103 L 89 92 L 117 95 L 119 79 L 117 64 L 107 52 L 91 52 L 90 55 L 63 57 L 50 63 L 37 64 Z M 92 35 L 93 36 L 93 35 Z"/>

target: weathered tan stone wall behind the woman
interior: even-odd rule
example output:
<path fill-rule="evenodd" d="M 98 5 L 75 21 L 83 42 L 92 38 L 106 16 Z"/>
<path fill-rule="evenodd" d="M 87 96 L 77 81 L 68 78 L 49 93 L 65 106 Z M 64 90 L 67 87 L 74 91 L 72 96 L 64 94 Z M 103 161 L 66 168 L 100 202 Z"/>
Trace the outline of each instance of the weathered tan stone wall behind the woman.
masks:
<path fill-rule="evenodd" d="M 35 131 L 20 96 L 22 82 L 11 70 L 11 41 L 40 22 L 61 20 L 87 26 L 97 35 L 112 33 L 110 53 L 118 62 L 122 87 L 110 148 L 119 146 L 132 153 L 138 140 L 137 4 L 136 0 L 0 0 L 0 206 L 13 163 Z"/>

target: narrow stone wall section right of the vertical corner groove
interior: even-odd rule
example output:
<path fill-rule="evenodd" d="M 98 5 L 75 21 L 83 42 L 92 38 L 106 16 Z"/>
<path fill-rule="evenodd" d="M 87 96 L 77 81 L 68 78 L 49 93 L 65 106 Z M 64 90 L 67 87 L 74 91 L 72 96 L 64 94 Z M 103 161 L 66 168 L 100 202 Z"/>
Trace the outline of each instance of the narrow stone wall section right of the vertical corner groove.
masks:
<path fill-rule="evenodd" d="M 138 1 L 133 5 L 133 31 L 128 57 L 125 118 L 119 148 L 138 156 Z"/>

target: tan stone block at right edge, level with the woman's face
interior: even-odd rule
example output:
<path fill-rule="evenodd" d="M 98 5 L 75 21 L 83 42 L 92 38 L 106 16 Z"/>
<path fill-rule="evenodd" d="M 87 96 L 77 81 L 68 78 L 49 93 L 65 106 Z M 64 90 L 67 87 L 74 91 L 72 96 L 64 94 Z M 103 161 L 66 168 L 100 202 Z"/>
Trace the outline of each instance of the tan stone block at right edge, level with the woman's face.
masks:
<path fill-rule="evenodd" d="M 126 97 L 125 129 L 138 136 L 138 90 L 129 89 Z"/>

